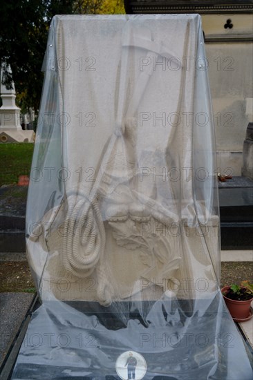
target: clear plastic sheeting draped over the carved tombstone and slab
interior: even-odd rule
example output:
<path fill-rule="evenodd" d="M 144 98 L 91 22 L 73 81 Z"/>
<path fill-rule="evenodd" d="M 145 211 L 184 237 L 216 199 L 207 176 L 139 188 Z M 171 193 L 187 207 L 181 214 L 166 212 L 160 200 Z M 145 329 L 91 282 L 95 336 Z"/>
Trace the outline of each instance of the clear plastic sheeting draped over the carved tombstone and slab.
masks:
<path fill-rule="evenodd" d="M 41 298 L 12 379 L 250 380 L 219 289 L 198 15 L 57 16 L 26 244 Z"/>

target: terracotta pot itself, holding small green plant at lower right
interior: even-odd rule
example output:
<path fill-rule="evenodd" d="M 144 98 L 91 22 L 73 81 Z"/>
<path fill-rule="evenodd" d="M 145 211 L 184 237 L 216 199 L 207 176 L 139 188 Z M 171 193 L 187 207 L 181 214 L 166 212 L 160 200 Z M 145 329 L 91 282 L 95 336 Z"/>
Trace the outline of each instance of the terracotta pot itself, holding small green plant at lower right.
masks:
<path fill-rule="evenodd" d="M 243 319 L 248 319 L 250 316 L 250 304 L 252 303 L 252 298 L 250 298 L 247 301 L 235 301 L 230 298 L 227 298 L 224 293 L 229 290 L 229 286 L 223 287 L 221 289 L 221 292 L 223 293 L 223 297 L 225 299 L 225 303 L 227 305 L 227 308 L 232 315 L 233 319 L 236 319 L 236 321 L 241 321 Z"/>

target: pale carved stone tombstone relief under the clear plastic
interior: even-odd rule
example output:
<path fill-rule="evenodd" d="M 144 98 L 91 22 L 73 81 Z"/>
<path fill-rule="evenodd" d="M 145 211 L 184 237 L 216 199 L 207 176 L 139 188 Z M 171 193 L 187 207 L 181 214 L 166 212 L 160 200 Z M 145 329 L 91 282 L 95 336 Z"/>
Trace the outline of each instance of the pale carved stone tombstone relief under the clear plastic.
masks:
<path fill-rule="evenodd" d="M 59 41 L 63 38 L 61 22 L 66 22 L 64 28 L 68 29 L 68 19 L 63 18 L 55 30 Z M 172 28 L 172 24 L 163 25 L 165 35 L 169 36 L 168 27 Z M 113 54 L 117 59 L 114 62 L 106 57 L 114 64 L 112 70 L 103 66 L 98 58 L 97 68 L 91 73 L 85 70 L 78 73 L 72 66 L 57 72 L 55 66 L 50 66 L 48 75 L 51 75 L 50 84 L 54 84 L 50 93 L 56 91 L 55 84 L 59 82 L 61 95 L 58 103 L 52 95 L 54 102 L 46 99 L 46 104 L 55 104 L 57 110 L 64 109 L 72 115 L 71 125 L 66 128 L 62 125 L 63 137 L 59 137 L 62 138 L 62 166 L 71 168 L 71 178 L 61 186 L 55 182 L 55 186 L 59 186 L 58 193 L 50 194 L 35 236 L 28 238 L 28 249 L 38 242 L 41 249 L 42 298 L 98 301 L 102 305 L 161 296 L 198 298 L 203 294 L 197 294 L 196 281 L 204 276 L 209 291 L 216 289 L 218 272 L 214 272 L 213 261 L 218 247 L 218 217 L 203 195 L 207 190 L 212 191 L 212 177 L 205 184 L 198 183 L 198 192 L 194 192 L 193 178 L 169 177 L 172 169 L 181 173 L 182 168 L 192 170 L 196 165 L 192 154 L 194 123 L 187 129 L 182 122 L 174 126 L 177 115 L 195 110 L 192 89 L 196 67 L 188 70 L 181 65 L 176 71 L 166 69 L 171 59 L 195 52 L 194 39 L 189 40 L 189 30 L 197 38 L 193 25 L 189 20 L 182 23 L 182 43 L 173 44 L 171 40 L 169 44 L 145 21 L 142 26 L 135 26 L 134 21 L 126 22 L 124 28 L 117 21 L 115 26 L 121 35 L 118 46 L 118 34 L 113 32 L 113 38 L 117 39 Z M 102 48 L 100 30 L 96 32 L 97 44 L 87 39 L 86 51 L 99 52 Z M 105 39 L 109 46 L 110 32 L 109 29 L 108 41 Z M 67 35 L 64 38 L 68 38 Z M 48 46 L 51 55 L 53 44 L 52 40 Z M 65 54 L 64 44 L 58 42 L 56 57 Z M 93 62 L 95 57 L 94 53 Z M 157 64 L 160 66 L 156 67 Z M 107 77 L 111 78 L 109 82 Z M 71 99 L 66 84 L 80 78 L 84 81 L 83 91 L 73 93 L 75 100 Z M 104 86 L 91 97 L 86 87 L 97 90 L 102 82 Z M 192 91 L 185 92 L 188 87 Z M 154 102 L 156 112 L 153 112 Z M 89 124 L 76 129 L 78 107 L 83 104 L 89 111 L 100 105 L 93 113 L 97 124 L 89 131 Z M 106 105 L 109 110 L 114 109 L 114 113 L 108 111 Z M 166 125 L 163 116 L 158 118 L 160 124 L 156 128 L 151 118 L 156 113 L 164 115 L 167 107 L 173 111 L 172 118 L 166 117 Z M 168 124 L 168 120 L 173 123 Z M 209 139 L 206 141 L 207 146 L 212 144 Z M 204 146 L 196 149 L 201 165 L 202 149 L 205 151 Z M 79 182 L 73 173 L 82 169 L 85 162 L 93 177 Z M 50 185 L 45 183 L 45 189 Z M 203 236 L 200 223 L 209 228 L 209 233 L 212 231 L 213 239 Z M 200 234 L 196 234 L 196 227 Z M 37 234 L 39 230 L 41 234 Z"/>

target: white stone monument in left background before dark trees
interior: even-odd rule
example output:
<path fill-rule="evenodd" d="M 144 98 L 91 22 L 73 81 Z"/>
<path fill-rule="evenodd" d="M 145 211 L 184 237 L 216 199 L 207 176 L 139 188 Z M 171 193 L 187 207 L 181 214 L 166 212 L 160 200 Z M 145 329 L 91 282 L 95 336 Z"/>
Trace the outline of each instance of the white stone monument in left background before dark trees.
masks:
<path fill-rule="evenodd" d="M 10 67 L 8 68 L 10 71 Z M 1 98 L 0 107 L 0 142 L 34 142 L 34 131 L 23 131 L 20 125 L 20 108 L 16 106 L 15 85 L 8 90 L 2 83 L 3 73 L 1 70 Z"/>

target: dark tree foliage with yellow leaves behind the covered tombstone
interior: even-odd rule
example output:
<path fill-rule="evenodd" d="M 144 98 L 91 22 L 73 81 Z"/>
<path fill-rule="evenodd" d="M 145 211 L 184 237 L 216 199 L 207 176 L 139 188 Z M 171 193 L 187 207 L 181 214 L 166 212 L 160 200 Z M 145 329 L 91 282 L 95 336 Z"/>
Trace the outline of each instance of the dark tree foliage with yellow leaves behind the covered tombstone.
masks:
<path fill-rule="evenodd" d="M 123 0 L 8 0 L 0 12 L 0 63 L 3 83 L 15 82 L 21 113 L 39 110 L 44 74 L 42 61 L 54 15 L 120 14 Z M 6 68 L 10 65 L 12 74 Z"/>

